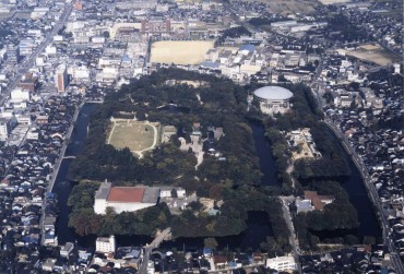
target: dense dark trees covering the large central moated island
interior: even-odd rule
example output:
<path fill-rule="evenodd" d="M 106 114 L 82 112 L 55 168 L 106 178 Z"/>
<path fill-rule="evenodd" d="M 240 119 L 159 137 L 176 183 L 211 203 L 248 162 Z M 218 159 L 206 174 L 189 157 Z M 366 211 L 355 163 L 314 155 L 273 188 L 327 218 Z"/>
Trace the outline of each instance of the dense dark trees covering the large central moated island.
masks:
<path fill-rule="evenodd" d="M 201 85 L 173 85 L 173 80 L 190 80 Z M 177 69 L 159 70 L 109 94 L 91 116 L 87 140 L 69 170 L 71 178 L 81 181 L 69 199 L 72 206 L 69 225 L 80 235 L 153 235 L 170 226 L 175 237 L 221 237 L 243 231 L 249 211 L 264 211 L 276 250 L 289 251 L 281 204 L 260 190 L 259 160 L 245 118 L 247 94 L 247 90 L 230 80 Z M 166 104 L 182 107 L 183 111 L 158 108 Z M 128 148 L 116 150 L 106 144 L 110 117 L 133 118 L 133 114 L 138 119 L 171 124 L 182 132 L 190 132 L 192 123 L 200 122 L 203 136 L 209 126 L 222 127 L 225 134 L 216 142 L 216 148 L 224 160 L 205 154 L 195 169 L 194 154 L 178 148 L 177 135 L 142 158 Z M 209 215 L 199 202 L 190 203 L 180 215 L 171 215 L 165 203 L 135 213 L 116 214 L 108 210 L 106 215 L 97 215 L 92 207 L 99 183 L 94 180 L 105 179 L 120 186 L 180 186 L 188 192 L 197 191 L 199 196 L 222 201 L 223 205 L 216 215 Z"/>

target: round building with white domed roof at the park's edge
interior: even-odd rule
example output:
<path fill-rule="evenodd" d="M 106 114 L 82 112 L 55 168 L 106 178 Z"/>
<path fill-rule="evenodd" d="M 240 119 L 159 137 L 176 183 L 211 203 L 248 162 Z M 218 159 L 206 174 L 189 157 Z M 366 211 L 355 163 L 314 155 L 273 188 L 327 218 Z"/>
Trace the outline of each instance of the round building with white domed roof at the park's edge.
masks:
<path fill-rule="evenodd" d="M 260 102 L 263 114 L 283 114 L 290 108 L 293 93 L 282 86 L 263 86 L 254 91 L 254 97 Z"/>

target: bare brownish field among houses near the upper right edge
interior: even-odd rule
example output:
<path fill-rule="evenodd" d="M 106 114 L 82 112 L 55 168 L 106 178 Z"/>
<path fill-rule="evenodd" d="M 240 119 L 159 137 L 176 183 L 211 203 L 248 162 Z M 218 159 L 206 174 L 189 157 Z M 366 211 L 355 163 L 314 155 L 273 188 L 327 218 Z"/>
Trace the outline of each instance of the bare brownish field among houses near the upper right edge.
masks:
<path fill-rule="evenodd" d="M 379 65 L 387 65 L 400 61 L 397 56 L 376 44 L 365 44 L 354 50 L 338 49 L 337 51 L 364 61 L 375 62 Z"/>

